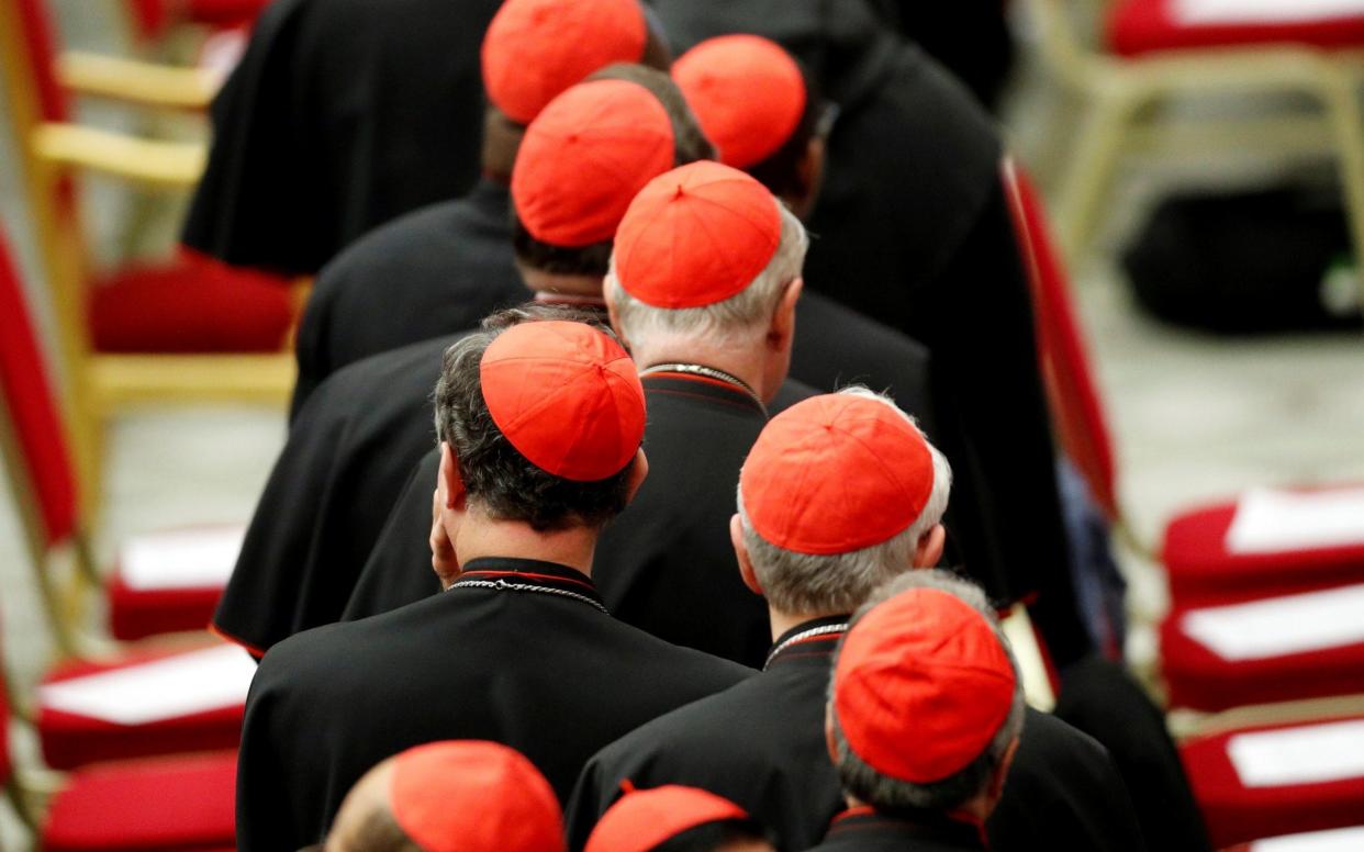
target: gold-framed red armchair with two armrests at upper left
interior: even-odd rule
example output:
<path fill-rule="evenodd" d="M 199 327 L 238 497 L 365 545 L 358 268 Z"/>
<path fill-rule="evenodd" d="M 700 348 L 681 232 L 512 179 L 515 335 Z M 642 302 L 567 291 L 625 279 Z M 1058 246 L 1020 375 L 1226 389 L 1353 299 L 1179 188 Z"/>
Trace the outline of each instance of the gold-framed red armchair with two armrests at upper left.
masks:
<path fill-rule="evenodd" d="M 291 281 L 187 249 L 155 263 L 89 269 L 75 176 L 186 191 L 203 169 L 205 147 L 74 123 L 70 94 L 199 109 L 211 95 L 211 75 L 59 55 L 42 0 L 0 0 L 0 60 L 56 308 L 80 499 L 93 506 L 104 423 L 119 410 L 146 402 L 284 405 L 293 386 L 288 346 L 299 299 Z"/>

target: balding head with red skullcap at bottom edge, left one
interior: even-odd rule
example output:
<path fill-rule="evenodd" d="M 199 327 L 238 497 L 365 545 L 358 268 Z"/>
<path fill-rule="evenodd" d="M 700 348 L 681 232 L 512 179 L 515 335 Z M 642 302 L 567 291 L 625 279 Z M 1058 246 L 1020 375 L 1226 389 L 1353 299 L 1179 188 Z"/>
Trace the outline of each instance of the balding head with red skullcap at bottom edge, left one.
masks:
<path fill-rule="evenodd" d="M 558 852 L 559 803 L 517 751 L 480 740 L 409 748 L 346 795 L 327 852 Z"/>

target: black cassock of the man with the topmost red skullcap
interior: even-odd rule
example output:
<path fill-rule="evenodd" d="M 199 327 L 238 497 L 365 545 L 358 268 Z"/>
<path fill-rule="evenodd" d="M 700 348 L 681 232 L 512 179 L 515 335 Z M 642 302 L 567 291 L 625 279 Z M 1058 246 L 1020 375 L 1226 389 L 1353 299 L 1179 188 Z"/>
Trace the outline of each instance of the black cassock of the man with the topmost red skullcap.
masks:
<path fill-rule="evenodd" d="M 374 229 L 322 267 L 299 323 L 293 412 L 346 364 L 472 329 L 525 301 L 509 206 L 506 184 L 484 177 L 461 199 Z"/>

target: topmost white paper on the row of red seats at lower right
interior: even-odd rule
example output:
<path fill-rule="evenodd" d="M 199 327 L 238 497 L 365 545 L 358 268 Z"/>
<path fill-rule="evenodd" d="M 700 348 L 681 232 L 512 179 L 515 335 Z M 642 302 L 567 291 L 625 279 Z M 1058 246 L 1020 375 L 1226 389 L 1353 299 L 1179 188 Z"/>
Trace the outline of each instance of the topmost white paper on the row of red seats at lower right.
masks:
<path fill-rule="evenodd" d="M 1226 530 L 1233 553 L 1278 553 L 1364 544 L 1364 488 L 1290 492 L 1256 488 L 1241 495 Z"/>

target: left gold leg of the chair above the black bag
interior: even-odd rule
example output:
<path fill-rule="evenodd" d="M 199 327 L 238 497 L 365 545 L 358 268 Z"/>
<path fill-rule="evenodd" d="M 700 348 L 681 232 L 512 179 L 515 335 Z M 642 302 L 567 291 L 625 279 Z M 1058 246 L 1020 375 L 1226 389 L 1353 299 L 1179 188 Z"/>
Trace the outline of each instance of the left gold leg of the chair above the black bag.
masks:
<path fill-rule="evenodd" d="M 1124 93 L 1101 94 L 1080 128 L 1056 217 L 1061 251 L 1072 269 L 1094 233 L 1098 206 L 1113 179 L 1133 109 Z"/>

